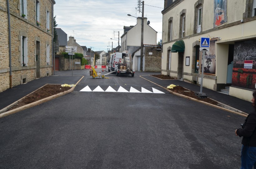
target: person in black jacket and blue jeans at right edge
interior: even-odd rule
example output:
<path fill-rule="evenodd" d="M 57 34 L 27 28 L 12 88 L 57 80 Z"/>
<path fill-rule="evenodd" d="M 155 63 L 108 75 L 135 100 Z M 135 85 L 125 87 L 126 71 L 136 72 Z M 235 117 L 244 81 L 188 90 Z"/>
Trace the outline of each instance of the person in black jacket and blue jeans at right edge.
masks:
<path fill-rule="evenodd" d="M 254 111 L 245 119 L 242 129 L 236 129 L 236 136 L 242 137 L 241 169 L 256 169 L 256 91 L 253 93 Z"/>

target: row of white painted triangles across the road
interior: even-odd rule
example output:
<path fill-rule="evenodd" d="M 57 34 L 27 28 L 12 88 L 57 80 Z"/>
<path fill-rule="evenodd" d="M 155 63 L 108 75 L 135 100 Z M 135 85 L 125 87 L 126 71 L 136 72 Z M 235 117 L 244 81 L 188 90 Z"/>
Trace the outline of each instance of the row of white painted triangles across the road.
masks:
<path fill-rule="evenodd" d="M 159 94 L 165 94 L 164 92 L 161 92 L 160 90 L 157 90 L 155 88 L 152 87 L 153 92 L 141 87 L 141 92 L 138 91 L 137 89 L 130 87 L 130 91 L 127 91 L 125 88 L 123 87 L 119 87 L 118 90 L 116 91 L 115 89 L 113 89 L 111 86 L 109 86 L 106 91 L 104 91 L 100 86 L 97 86 L 93 91 L 91 90 L 91 88 L 89 86 L 84 87 L 82 90 L 80 90 L 80 92 L 126 92 L 126 93 L 159 93 Z"/>

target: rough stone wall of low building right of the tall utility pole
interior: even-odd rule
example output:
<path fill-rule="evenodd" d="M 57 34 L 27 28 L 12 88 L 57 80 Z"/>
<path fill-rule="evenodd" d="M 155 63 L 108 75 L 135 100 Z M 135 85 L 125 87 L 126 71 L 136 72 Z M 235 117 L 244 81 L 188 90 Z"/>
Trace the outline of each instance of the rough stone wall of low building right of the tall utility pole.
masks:
<path fill-rule="evenodd" d="M 156 47 L 145 47 L 145 72 L 161 72 L 162 53 L 157 52 Z"/>

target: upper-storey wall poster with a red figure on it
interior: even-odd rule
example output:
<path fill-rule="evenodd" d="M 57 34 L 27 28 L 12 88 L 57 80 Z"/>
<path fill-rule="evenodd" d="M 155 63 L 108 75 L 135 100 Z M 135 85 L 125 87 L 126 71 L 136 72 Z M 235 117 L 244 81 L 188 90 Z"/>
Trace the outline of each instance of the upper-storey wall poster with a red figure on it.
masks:
<path fill-rule="evenodd" d="M 213 27 L 224 24 L 227 18 L 227 0 L 214 0 L 214 23 Z"/>

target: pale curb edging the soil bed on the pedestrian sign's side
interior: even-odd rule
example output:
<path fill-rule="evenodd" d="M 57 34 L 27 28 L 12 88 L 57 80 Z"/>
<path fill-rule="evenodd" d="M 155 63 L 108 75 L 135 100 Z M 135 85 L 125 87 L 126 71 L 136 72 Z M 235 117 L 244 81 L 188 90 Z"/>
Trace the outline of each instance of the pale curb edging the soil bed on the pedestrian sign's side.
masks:
<path fill-rule="evenodd" d="M 145 80 L 147 80 L 147 81 L 149 81 L 149 82 L 151 82 L 151 83 L 154 83 L 154 82 L 152 82 L 152 81 L 150 81 L 150 80 L 148 80 L 148 79 L 146 79 L 146 78 L 144 78 L 144 77 L 142 77 L 142 76 L 145 76 L 145 75 L 141 75 L 140 77 L 143 78 L 143 79 L 145 79 Z M 160 86 L 159 84 L 156 84 L 156 83 L 154 83 L 154 84 L 157 85 L 157 86 L 159 86 L 159 87 L 162 87 L 162 86 Z M 244 116 L 244 117 L 247 117 L 247 115 L 248 115 L 247 113 L 244 113 L 243 111 L 237 110 L 237 109 L 235 109 L 235 108 L 233 108 L 233 107 L 230 107 L 230 106 L 228 106 L 228 105 L 225 105 L 225 104 L 223 104 L 223 103 L 220 103 L 219 101 L 217 101 L 217 102 L 218 102 L 221 106 L 223 106 L 223 107 L 216 106 L 216 105 L 212 105 L 212 104 L 210 104 L 210 103 L 207 103 L 207 102 L 204 102 L 204 101 L 200 101 L 200 100 L 194 99 L 194 98 L 189 97 L 189 96 L 185 96 L 185 95 L 182 95 L 182 94 L 179 94 L 179 93 L 176 93 L 176 92 L 172 92 L 172 91 L 168 90 L 168 89 L 165 88 L 165 87 L 162 87 L 162 88 L 164 88 L 165 90 L 167 90 L 168 92 L 170 92 L 170 93 L 173 94 L 173 95 L 180 96 L 180 97 L 183 97 L 183 98 L 187 98 L 187 99 L 190 99 L 190 100 L 193 100 L 193 101 L 197 101 L 197 102 L 199 102 L 199 103 L 203 103 L 203 104 L 205 104 L 205 105 L 212 106 L 212 107 L 215 107 L 215 108 L 217 108 L 217 109 L 221 109 L 221 110 L 224 110 L 224 111 L 228 111 L 228 112 L 230 112 L 230 113 L 234 113 L 234 114 L 237 114 L 237 115 L 242 115 L 242 116 Z M 189 90 L 189 89 L 188 89 L 188 90 Z M 213 100 L 213 99 L 211 99 L 211 100 Z M 215 100 L 214 100 L 214 101 L 215 101 Z"/>

